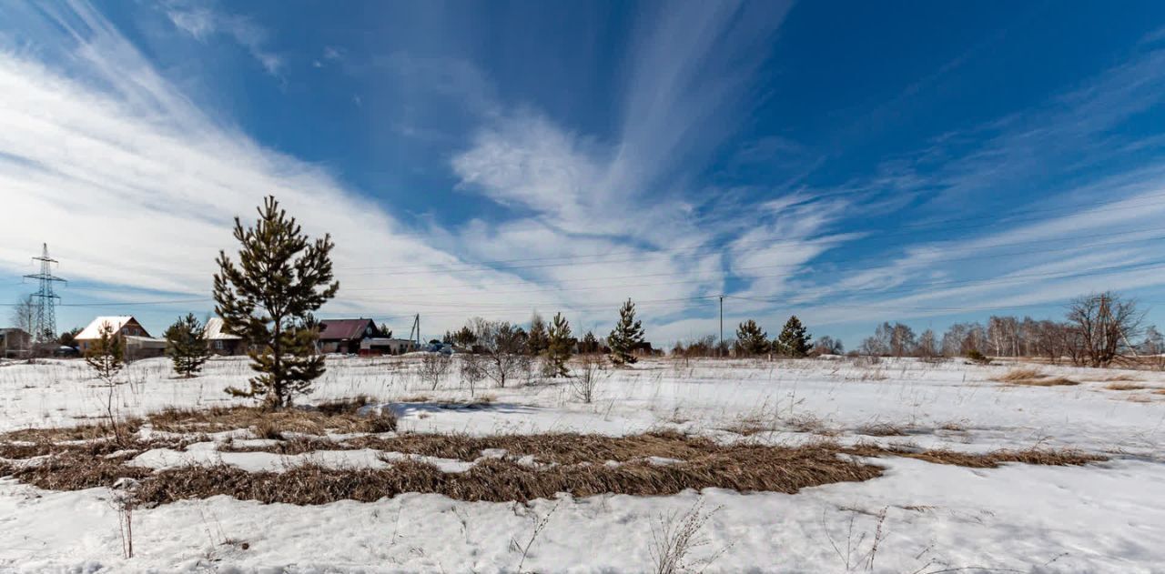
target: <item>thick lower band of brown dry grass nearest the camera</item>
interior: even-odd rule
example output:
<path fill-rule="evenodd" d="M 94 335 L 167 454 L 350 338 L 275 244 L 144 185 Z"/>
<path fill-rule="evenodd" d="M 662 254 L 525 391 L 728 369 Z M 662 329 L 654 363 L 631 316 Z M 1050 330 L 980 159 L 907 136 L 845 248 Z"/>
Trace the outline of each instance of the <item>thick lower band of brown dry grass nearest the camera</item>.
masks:
<path fill-rule="evenodd" d="M 558 492 L 573 496 L 671 495 L 685 489 L 796 492 L 805 487 L 864 481 L 881 475 L 870 465 L 846 462 L 831 448 L 757 447 L 749 458 L 718 453 L 668 466 L 627 462 L 531 468 L 508 460 L 483 460 L 466 473 L 443 473 L 417 461 L 391 468 L 333 469 L 315 465 L 283 473 L 246 473 L 230 467 L 192 467 L 158 473 L 142 482 L 147 504 L 231 495 L 240 499 L 325 504 L 339 499 L 372 502 L 402 492 L 436 492 L 464 501 L 527 502 Z"/>

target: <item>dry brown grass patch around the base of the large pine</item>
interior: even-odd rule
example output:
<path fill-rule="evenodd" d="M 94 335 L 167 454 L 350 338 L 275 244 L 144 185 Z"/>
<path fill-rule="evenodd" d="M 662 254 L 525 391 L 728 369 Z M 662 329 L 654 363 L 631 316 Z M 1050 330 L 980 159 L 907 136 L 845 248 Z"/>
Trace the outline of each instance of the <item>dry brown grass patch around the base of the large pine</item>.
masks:
<path fill-rule="evenodd" d="M 324 434 L 380 433 L 396 430 L 396 417 L 383 411 L 359 414 L 366 397 L 330 402 L 315 409 L 283 409 L 271 411 L 257 406 L 216 406 L 204 410 L 167 409 L 147 417 L 158 431 L 221 432 L 250 428 L 260 438 L 280 439 L 283 433 Z"/>

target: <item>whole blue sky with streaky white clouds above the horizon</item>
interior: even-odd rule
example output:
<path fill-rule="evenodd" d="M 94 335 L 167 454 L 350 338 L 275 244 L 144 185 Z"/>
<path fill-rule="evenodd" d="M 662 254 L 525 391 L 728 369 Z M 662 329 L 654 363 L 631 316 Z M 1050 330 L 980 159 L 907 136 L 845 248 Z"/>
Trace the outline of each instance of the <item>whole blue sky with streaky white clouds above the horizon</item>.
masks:
<path fill-rule="evenodd" d="M 3 2 L 0 300 L 161 332 L 274 193 L 397 332 L 1160 323 L 1163 99 L 1160 2 Z"/>

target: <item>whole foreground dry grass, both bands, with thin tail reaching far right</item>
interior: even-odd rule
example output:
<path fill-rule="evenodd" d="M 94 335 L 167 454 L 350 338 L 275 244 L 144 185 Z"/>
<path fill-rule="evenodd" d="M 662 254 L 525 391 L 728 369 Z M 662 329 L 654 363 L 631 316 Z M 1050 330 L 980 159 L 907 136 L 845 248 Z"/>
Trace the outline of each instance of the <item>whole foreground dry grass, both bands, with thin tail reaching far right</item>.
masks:
<path fill-rule="evenodd" d="M 119 448 L 112 441 L 52 445 L 12 445 L 23 458 L 48 455 L 34 463 L 0 463 L 0 475 L 51 490 L 108 487 L 120 477 L 140 481 L 140 503 L 163 504 L 185 498 L 230 495 L 240 499 L 324 504 L 339 499 L 376 501 L 402 492 L 435 492 L 465 501 L 530 501 L 557 492 L 573 496 L 598 494 L 670 495 L 684 489 L 726 488 L 737 491 L 796 492 L 802 488 L 846 481 L 864 481 L 882 469 L 839 454 L 908 456 L 933 463 L 993 468 L 1004 462 L 1031 465 L 1083 465 L 1101 456 L 1074 451 L 1028 449 L 967 454 L 908 447 L 857 445 L 841 447 L 818 442 L 797 447 L 756 444 L 723 445 L 702 437 L 663 431 L 630 437 L 595 434 L 403 434 L 361 437 L 347 441 L 297 438 L 275 452 L 311 452 L 336 448 L 375 448 L 388 452 L 475 461 L 465 473 L 444 473 L 416 460 L 397 460 L 383 469 L 292 467 L 282 473 L 248 473 L 230 466 L 191 466 L 154 473 L 126 466 L 136 453 L 184 444 L 140 442 Z M 283 451 L 277 451 L 282 448 Z M 502 448 L 506 459 L 481 458 L 485 449 Z M 259 449 L 259 448 L 253 448 Z M 9 453 L 13 454 L 13 453 Z M 514 460 L 531 455 L 529 466 Z M 649 456 L 678 459 L 654 465 Z M 617 465 L 607 465 L 617 461 Z"/>

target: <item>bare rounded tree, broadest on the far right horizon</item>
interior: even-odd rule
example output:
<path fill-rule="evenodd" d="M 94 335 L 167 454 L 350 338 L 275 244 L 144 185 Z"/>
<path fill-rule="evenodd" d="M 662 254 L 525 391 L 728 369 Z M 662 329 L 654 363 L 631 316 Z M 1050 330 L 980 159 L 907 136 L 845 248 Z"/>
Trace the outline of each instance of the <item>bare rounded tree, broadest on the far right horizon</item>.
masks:
<path fill-rule="evenodd" d="M 1090 367 L 1107 367 L 1128 356 L 1144 316 L 1136 300 L 1103 292 L 1073 300 L 1067 319 L 1081 346 L 1082 360 Z"/>

